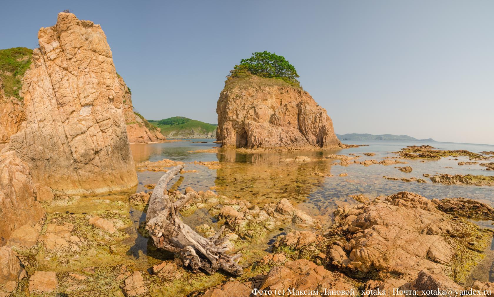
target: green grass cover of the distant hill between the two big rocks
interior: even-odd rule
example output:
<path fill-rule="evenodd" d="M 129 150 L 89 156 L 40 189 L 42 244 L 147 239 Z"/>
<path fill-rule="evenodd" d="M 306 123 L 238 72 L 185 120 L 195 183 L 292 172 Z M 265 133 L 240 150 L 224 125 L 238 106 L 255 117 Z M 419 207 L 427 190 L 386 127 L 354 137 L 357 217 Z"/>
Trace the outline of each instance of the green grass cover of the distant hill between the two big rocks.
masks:
<path fill-rule="evenodd" d="M 216 130 L 218 124 L 208 124 L 202 121 L 190 119 L 183 116 L 174 116 L 162 120 L 148 120 L 152 125 L 161 128 L 163 135 L 168 135 L 170 132 L 182 131 L 181 134 L 186 135 L 189 131 L 198 131 L 199 129 L 206 133 Z"/>

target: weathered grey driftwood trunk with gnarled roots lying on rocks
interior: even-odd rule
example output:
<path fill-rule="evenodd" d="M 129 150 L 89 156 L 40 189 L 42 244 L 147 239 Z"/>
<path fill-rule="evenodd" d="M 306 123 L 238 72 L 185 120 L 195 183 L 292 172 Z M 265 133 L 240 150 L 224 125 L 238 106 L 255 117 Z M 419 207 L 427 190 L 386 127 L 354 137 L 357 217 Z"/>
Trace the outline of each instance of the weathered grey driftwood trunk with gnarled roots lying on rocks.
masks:
<path fill-rule="evenodd" d="M 171 202 L 167 194 L 164 195 L 168 182 L 182 168 L 183 165 L 178 165 L 166 172 L 149 198 L 146 229 L 154 244 L 179 255 L 184 265 L 190 266 L 194 271 L 204 269 L 211 274 L 223 269 L 234 275 L 242 274 L 243 269 L 238 264 L 241 255 L 226 254 L 228 248 L 224 242 L 227 238 L 218 239 L 225 226 L 213 236 L 204 238 L 183 223 L 178 214 L 180 208 L 194 197 L 193 194 L 181 195 L 175 202 Z"/>

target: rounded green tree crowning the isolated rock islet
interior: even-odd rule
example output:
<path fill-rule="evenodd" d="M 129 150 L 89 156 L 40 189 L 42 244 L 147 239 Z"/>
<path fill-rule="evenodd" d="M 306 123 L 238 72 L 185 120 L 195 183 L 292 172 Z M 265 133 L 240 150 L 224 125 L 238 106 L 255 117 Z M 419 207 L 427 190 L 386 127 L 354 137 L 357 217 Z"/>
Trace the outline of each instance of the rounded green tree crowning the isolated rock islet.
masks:
<path fill-rule="evenodd" d="M 228 81 L 232 78 L 242 78 L 252 74 L 261 77 L 278 78 L 293 86 L 300 87 L 300 81 L 297 79 L 299 76 L 295 67 L 285 57 L 268 51 L 255 52 L 252 53 L 252 57 L 242 59 L 240 64 L 235 65 L 226 77 Z"/>

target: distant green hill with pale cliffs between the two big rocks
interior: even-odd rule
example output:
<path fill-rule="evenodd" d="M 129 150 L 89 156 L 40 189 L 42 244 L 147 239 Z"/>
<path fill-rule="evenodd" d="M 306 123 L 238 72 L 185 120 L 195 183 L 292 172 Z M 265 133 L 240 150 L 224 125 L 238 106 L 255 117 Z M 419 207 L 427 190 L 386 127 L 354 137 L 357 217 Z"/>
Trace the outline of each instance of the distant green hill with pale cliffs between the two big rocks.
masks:
<path fill-rule="evenodd" d="M 218 126 L 183 116 L 148 121 L 160 128 L 166 138 L 216 138 Z"/>

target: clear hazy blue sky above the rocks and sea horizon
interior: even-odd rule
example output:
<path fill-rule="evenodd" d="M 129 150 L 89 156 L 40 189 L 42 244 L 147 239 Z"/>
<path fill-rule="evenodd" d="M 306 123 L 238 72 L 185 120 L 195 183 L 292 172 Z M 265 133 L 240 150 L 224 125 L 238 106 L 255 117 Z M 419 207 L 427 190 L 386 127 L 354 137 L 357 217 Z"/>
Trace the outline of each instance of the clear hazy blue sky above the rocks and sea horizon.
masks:
<path fill-rule="evenodd" d="M 34 48 L 70 9 L 100 24 L 148 119 L 216 123 L 225 75 L 285 56 L 335 132 L 494 144 L 494 1 L 1 0 L 0 48 Z"/>

